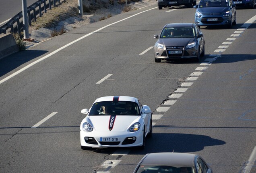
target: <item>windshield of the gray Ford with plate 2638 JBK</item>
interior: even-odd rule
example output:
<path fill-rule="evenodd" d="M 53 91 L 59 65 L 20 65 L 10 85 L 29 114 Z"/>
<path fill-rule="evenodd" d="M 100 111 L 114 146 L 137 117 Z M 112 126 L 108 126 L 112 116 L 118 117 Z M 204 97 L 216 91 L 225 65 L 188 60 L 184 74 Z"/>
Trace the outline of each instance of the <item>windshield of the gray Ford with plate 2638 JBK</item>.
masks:
<path fill-rule="evenodd" d="M 169 27 L 162 30 L 160 38 L 193 38 L 195 35 L 193 27 Z"/>

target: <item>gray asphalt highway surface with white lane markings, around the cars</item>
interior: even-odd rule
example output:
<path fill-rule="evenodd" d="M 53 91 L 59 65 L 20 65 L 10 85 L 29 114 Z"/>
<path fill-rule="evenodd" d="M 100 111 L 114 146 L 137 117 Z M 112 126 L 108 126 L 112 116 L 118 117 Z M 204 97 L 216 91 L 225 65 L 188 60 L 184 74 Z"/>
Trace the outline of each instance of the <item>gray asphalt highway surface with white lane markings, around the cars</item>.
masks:
<path fill-rule="evenodd" d="M 237 10 L 232 29 L 202 27 L 200 62 L 155 63 L 153 35 L 195 13 L 156 5 L 1 59 L 0 172 L 132 173 L 146 153 L 174 151 L 201 155 L 215 173 L 256 173 L 255 10 Z M 144 150 L 81 149 L 80 111 L 107 95 L 151 107 Z"/>

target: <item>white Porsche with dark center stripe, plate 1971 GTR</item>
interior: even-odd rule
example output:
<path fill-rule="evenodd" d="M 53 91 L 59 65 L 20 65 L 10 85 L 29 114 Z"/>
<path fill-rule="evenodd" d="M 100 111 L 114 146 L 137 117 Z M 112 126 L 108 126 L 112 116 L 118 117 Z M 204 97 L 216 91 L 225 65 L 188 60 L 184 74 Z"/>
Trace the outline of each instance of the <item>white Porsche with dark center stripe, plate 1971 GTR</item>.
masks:
<path fill-rule="evenodd" d="M 152 112 L 140 101 L 128 96 L 96 99 L 80 125 L 81 148 L 145 147 L 145 137 L 152 136 Z"/>

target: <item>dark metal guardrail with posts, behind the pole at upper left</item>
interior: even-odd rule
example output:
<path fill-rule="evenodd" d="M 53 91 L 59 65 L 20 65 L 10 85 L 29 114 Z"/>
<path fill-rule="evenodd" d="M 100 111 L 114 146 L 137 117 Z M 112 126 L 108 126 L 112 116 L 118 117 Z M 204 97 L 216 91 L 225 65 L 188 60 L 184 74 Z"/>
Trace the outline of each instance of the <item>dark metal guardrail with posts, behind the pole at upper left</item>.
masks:
<path fill-rule="evenodd" d="M 60 3 L 60 0 L 38 0 L 31 6 L 27 7 L 28 21 L 31 26 L 31 21 L 36 22 L 37 17 L 41 17 L 43 12 L 47 12 L 47 9 L 52 9 L 52 6 L 56 6 L 56 2 Z M 50 5 L 49 5 L 50 4 Z M 0 34 L 6 34 L 7 32 L 21 34 L 23 30 L 23 16 L 22 11 L 12 17 L 8 22 L 0 26 Z"/>

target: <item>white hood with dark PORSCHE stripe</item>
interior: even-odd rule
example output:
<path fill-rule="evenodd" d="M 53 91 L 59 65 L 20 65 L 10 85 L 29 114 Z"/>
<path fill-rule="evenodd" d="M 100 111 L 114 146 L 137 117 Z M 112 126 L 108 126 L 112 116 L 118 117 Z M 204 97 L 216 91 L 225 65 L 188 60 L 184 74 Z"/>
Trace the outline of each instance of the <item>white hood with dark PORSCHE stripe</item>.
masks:
<path fill-rule="evenodd" d="M 93 129 L 99 131 L 125 131 L 132 125 L 132 123 L 140 116 L 129 115 L 102 115 L 102 116 L 89 116 L 93 125 Z M 134 122 L 134 123 L 135 123 Z"/>

